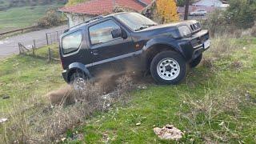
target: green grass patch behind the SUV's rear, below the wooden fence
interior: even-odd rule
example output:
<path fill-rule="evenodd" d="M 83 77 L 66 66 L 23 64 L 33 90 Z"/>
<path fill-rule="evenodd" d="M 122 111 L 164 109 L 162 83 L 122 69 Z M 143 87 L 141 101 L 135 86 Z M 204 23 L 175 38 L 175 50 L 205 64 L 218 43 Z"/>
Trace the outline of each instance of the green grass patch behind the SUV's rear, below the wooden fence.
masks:
<path fill-rule="evenodd" d="M 47 48 L 36 50 L 37 55 L 46 56 Z M 54 55 L 57 46 L 50 46 Z M 32 96 L 42 98 L 50 90 L 61 86 L 60 62 L 48 63 L 46 58 L 15 55 L 0 62 L 0 96 L 9 95 L 9 99 L 0 98 L 0 117 L 11 111 L 12 106 Z"/>

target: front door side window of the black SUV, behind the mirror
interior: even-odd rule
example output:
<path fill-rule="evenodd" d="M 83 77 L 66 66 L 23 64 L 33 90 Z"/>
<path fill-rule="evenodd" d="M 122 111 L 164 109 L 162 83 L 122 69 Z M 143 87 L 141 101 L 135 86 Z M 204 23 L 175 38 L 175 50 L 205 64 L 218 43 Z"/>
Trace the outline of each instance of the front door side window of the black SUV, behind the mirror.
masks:
<path fill-rule="evenodd" d="M 91 26 L 89 28 L 91 44 L 96 45 L 98 43 L 112 41 L 114 38 L 112 38 L 111 31 L 118 28 L 120 26 L 111 20 Z"/>

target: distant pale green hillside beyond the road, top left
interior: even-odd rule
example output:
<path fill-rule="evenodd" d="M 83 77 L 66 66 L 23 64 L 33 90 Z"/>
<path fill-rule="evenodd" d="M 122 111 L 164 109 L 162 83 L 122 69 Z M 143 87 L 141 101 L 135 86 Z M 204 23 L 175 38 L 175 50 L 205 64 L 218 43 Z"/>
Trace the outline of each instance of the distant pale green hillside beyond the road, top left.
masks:
<path fill-rule="evenodd" d="M 0 10 L 0 33 L 27 26 L 35 26 L 38 20 L 46 14 L 47 10 L 56 10 L 58 7 L 64 6 L 64 4 L 61 1 L 35 1 L 35 4 L 22 1 L 10 5 L 9 1 L 0 0 L 0 7 L 7 6 L 5 10 Z"/>

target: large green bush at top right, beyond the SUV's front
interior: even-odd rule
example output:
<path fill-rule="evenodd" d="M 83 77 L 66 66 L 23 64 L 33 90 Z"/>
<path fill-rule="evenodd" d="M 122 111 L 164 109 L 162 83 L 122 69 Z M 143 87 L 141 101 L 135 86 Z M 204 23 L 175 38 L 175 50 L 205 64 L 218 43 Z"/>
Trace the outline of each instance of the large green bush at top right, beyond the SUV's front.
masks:
<path fill-rule="evenodd" d="M 230 0 L 227 10 L 215 10 L 202 22 L 205 29 L 214 34 L 235 34 L 240 37 L 242 29 L 254 26 L 256 20 L 256 2 L 250 0 Z"/>

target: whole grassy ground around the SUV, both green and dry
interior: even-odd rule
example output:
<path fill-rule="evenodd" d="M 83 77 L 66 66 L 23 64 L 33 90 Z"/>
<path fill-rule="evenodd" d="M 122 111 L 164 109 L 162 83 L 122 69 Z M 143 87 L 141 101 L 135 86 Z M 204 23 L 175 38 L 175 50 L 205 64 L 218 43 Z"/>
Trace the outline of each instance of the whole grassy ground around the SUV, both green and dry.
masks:
<path fill-rule="evenodd" d="M 176 143 L 157 138 L 153 131 L 155 126 L 173 124 L 185 133 L 180 140 L 183 143 L 254 143 L 255 46 L 255 38 L 215 38 L 201 65 L 190 70 L 182 84 L 147 84 L 146 90 L 129 93 L 128 104 L 116 102 L 108 112 L 97 112 L 90 117 L 86 114 L 94 110 L 88 103 L 56 109 L 49 108 L 49 102 L 41 105 L 42 95 L 64 84 L 58 62 L 48 63 L 43 58 L 23 55 L 7 58 L 0 63 L 0 95 L 8 94 L 10 99 L 0 100 L 1 112 L 10 113 L 19 105 L 27 107 L 27 102 L 24 103 L 31 97 L 35 100 L 28 102 L 34 105 L 32 109 L 19 111 L 10 116 L 10 122 L 0 126 L 0 132 L 4 132 L 0 133 L 0 139 L 22 142 L 27 138 L 26 143 L 30 138 L 55 142 L 66 137 L 67 143 Z M 56 47 L 51 48 L 57 57 Z M 46 56 L 46 51 L 44 47 L 36 55 Z M 93 90 L 88 93 L 91 93 L 89 99 L 101 96 Z M 86 115 L 86 119 L 81 115 Z M 141 125 L 136 126 L 138 122 Z M 58 130 L 66 131 L 66 136 L 50 139 L 49 135 L 62 134 Z M 84 138 L 77 140 L 74 133 Z M 2 137 L 4 134 L 7 136 Z"/>

